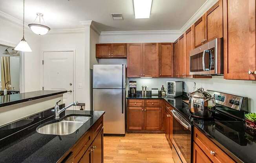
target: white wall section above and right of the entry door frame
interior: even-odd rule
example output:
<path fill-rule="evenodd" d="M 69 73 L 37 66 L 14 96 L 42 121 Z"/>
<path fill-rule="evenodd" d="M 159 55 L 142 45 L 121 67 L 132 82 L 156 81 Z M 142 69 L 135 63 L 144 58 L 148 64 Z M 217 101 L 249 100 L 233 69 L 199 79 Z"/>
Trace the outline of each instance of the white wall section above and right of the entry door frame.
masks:
<path fill-rule="evenodd" d="M 75 100 L 79 103 L 86 103 L 85 33 L 49 33 L 41 36 L 40 39 L 41 53 L 48 50 L 75 50 Z M 78 88 L 79 83 L 82 84 L 82 88 Z M 87 106 L 88 103 L 86 103 Z"/>

